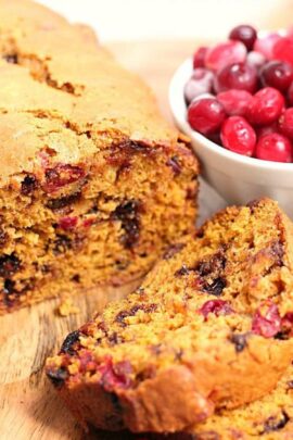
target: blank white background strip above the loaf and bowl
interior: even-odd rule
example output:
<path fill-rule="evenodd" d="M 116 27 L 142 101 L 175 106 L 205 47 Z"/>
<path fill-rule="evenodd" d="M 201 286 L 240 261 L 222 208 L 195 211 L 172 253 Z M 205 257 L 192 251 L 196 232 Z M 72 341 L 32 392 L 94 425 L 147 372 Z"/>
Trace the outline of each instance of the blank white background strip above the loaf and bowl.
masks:
<path fill-rule="evenodd" d="M 218 38 L 234 24 L 280 27 L 293 23 L 293 0 L 39 0 L 100 39 Z"/>

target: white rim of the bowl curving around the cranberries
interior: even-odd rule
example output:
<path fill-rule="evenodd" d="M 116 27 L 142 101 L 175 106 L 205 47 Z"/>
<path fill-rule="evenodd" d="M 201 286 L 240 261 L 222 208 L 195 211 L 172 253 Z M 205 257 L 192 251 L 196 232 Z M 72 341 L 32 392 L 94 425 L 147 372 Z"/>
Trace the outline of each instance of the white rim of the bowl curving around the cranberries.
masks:
<path fill-rule="evenodd" d="M 207 139 L 205 136 L 201 135 L 199 131 L 195 131 L 189 125 L 186 113 L 186 101 L 183 98 L 183 87 L 186 81 L 189 79 L 192 73 L 192 58 L 184 60 L 175 71 L 168 89 L 168 100 L 171 114 L 179 126 L 179 128 L 188 135 L 191 139 L 195 140 L 203 148 L 214 154 L 218 154 L 221 158 L 234 162 L 241 163 L 242 165 L 251 166 L 253 168 L 262 168 L 276 172 L 293 172 L 293 163 L 283 163 L 283 162 L 272 162 L 264 161 L 262 159 L 250 158 L 233 151 L 227 150 L 226 148 L 218 146 L 214 141 Z M 182 106 L 183 104 L 183 106 Z M 186 109 L 184 113 L 181 112 L 181 109 Z"/>

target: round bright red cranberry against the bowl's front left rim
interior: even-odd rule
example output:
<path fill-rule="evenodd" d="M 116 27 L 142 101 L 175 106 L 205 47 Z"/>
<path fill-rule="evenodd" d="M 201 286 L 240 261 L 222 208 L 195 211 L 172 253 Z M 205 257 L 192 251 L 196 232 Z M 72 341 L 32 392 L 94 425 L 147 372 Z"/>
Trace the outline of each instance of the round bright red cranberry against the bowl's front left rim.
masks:
<path fill-rule="evenodd" d="M 188 109 L 189 124 L 203 135 L 215 133 L 221 126 L 225 117 L 224 106 L 214 98 L 191 102 Z"/>

